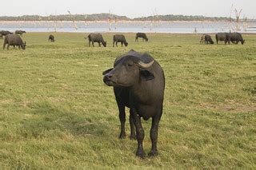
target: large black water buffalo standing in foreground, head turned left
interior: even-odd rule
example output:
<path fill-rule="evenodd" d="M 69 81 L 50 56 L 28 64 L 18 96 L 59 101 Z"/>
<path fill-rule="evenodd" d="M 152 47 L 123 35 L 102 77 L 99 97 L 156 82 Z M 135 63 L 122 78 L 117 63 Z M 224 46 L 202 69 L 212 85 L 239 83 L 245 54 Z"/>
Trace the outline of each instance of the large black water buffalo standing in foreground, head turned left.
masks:
<path fill-rule="evenodd" d="M 137 156 L 144 157 L 142 147 L 144 129 L 141 117 L 144 120 L 152 117 L 150 139 L 152 148 L 150 156 L 158 155 L 158 125 L 162 116 L 162 102 L 165 89 L 165 76 L 161 66 L 147 53 L 138 53 L 134 50 L 117 57 L 114 68 L 102 73 L 106 85 L 114 86 L 114 95 L 118 104 L 119 119 L 121 121 L 120 138 L 126 136 L 125 107 L 130 108 L 130 138 L 138 140 Z"/>

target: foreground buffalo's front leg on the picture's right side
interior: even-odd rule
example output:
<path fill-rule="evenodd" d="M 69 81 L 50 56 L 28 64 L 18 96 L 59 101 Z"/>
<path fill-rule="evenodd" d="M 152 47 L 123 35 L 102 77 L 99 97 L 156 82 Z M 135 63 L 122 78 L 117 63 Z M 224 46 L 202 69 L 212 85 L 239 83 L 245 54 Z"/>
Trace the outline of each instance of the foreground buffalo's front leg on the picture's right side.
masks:
<path fill-rule="evenodd" d="M 162 111 L 161 111 L 162 112 Z M 150 151 L 150 156 L 157 156 L 158 155 L 158 148 L 157 148 L 157 142 L 158 142 L 158 126 L 161 116 L 156 116 L 152 118 L 152 125 L 150 129 L 150 139 L 152 148 Z"/>

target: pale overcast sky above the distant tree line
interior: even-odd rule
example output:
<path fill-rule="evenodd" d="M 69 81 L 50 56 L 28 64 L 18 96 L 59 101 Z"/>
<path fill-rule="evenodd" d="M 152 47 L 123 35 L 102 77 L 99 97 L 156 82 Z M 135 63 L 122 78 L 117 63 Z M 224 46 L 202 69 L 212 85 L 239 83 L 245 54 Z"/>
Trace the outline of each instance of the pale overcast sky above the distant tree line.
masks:
<path fill-rule="evenodd" d="M 256 0 L 8 0 L 1 4 L 0 16 L 67 14 L 70 10 L 71 14 L 111 11 L 130 18 L 154 13 L 229 17 L 232 4 L 242 9 L 242 17 L 256 18 Z"/>

